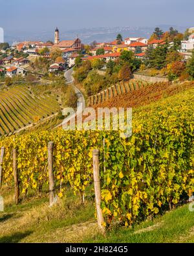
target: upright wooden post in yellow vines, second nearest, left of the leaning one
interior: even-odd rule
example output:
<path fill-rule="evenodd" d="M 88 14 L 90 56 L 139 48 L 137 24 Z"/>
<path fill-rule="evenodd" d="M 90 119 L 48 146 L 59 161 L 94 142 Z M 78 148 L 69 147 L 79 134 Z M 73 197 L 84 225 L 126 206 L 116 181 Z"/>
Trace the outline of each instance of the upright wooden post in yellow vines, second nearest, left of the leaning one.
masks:
<path fill-rule="evenodd" d="M 54 175 L 53 175 L 53 142 L 48 142 L 48 181 L 49 181 L 49 205 L 54 202 Z"/>

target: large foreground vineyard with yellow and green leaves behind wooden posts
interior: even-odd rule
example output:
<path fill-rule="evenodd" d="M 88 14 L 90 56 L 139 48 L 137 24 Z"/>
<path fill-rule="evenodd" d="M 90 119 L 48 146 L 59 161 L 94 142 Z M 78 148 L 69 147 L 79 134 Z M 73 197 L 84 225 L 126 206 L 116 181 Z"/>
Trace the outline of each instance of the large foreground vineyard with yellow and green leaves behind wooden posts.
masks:
<path fill-rule="evenodd" d="M 127 139 L 119 132 L 63 130 L 1 139 L 3 183 L 14 185 L 15 148 L 21 194 L 41 191 L 48 185 L 47 145 L 53 141 L 55 193 L 63 197 L 71 188 L 83 203 L 93 184 L 92 150 L 98 149 L 104 226 L 131 226 L 164 213 L 193 193 L 193 100 L 194 89 L 187 89 L 135 110 Z"/>

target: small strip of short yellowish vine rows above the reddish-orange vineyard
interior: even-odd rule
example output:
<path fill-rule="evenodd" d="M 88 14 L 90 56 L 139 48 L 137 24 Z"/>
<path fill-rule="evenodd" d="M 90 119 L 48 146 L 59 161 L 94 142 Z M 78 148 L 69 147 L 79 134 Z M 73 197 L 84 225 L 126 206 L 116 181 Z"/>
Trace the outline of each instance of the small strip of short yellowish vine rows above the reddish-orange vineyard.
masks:
<path fill-rule="evenodd" d="M 105 102 L 106 100 L 113 99 L 117 95 L 122 95 L 131 91 L 138 90 L 142 87 L 147 86 L 147 82 L 143 81 L 133 81 L 133 82 L 120 82 L 114 86 L 111 86 L 96 95 L 89 97 L 89 106 Z"/>

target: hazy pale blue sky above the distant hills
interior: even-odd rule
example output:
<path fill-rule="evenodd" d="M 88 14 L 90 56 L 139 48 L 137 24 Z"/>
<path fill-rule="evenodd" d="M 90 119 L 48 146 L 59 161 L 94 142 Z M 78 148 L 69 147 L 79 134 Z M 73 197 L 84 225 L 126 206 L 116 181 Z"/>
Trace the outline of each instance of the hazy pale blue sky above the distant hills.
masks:
<path fill-rule="evenodd" d="M 92 27 L 194 27 L 193 0 L 0 0 L 5 30 L 62 30 Z"/>

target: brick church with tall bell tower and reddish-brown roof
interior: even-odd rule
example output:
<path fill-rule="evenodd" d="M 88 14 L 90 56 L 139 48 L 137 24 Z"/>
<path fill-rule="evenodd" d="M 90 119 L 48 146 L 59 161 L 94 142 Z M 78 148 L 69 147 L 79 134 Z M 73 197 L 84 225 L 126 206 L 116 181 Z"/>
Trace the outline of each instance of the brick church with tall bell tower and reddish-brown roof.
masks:
<path fill-rule="evenodd" d="M 63 40 L 59 41 L 59 30 L 56 28 L 54 32 L 54 45 L 52 48 L 59 48 L 61 50 L 72 49 L 73 51 L 81 51 L 81 40 Z"/>

